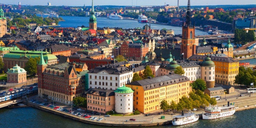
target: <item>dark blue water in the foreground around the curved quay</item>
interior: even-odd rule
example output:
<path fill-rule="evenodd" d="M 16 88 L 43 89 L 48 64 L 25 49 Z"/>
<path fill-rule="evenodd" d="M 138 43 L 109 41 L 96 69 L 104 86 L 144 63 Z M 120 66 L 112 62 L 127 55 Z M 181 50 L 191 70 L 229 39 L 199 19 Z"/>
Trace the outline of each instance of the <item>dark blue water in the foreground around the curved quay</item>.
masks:
<path fill-rule="evenodd" d="M 1 108 L 1 128 L 112 128 L 96 126 L 74 121 L 66 117 L 54 115 L 32 107 L 25 108 Z M 233 116 L 223 117 L 215 120 L 203 120 L 182 127 L 194 128 L 254 128 L 256 109 L 238 111 Z M 149 128 L 170 128 L 168 126 L 154 126 Z"/>

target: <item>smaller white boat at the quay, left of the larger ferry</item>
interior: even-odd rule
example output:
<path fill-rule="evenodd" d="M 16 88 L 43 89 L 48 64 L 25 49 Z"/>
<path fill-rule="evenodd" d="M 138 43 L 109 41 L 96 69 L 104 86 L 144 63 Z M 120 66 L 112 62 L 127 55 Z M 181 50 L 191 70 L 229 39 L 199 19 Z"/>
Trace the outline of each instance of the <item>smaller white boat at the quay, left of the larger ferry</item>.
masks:
<path fill-rule="evenodd" d="M 186 113 L 184 114 L 183 111 L 181 112 L 181 115 L 177 115 L 172 119 L 172 125 L 184 125 L 193 123 L 195 121 L 198 121 L 199 115 L 196 115 L 195 113 Z"/>

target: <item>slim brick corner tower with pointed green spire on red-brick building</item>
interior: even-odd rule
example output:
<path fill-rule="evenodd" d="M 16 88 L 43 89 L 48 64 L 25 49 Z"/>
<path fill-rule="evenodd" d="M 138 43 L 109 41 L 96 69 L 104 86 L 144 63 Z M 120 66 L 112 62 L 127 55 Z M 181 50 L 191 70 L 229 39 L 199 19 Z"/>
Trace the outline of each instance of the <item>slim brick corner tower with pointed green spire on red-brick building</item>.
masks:
<path fill-rule="evenodd" d="M 44 94 L 44 69 L 46 68 L 47 64 L 44 62 L 44 57 L 43 53 L 41 51 L 41 56 L 40 56 L 40 62 L 38 63 L 37 71 L 38 71 L 38 96 L 47 98 L 48 96 Z"/>

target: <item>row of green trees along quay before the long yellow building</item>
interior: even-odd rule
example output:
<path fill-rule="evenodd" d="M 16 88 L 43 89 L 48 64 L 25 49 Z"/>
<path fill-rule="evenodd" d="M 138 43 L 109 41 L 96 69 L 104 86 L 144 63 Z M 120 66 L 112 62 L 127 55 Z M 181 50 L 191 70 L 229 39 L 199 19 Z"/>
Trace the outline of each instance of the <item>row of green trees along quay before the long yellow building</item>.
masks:
<path fill-rule="evenodd" d="M 216 99 L 211 98 L 208 94 L 204 94 L 201 90 L 193 90 L 189 93 L 189 97 L 183 95 L 179 99 L 179 103 L 172 101 L 169 105 L 166 100 L 161 101 L 160 108 L 163 111 L 167 109 L 183 110 L 184 108 L 192 110 L 192 108 L 204 108 L 205 106 L 209 106 L 209 104 L 217 104 Z"/>

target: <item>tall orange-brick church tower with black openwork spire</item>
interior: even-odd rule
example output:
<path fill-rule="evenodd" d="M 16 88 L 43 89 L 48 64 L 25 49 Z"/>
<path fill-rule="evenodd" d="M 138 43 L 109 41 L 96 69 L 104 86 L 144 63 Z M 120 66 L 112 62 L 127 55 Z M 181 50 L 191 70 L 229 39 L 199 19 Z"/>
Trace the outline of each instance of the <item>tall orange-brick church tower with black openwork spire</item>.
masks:
<path fill-rule="evenodd" d="M 186 15 L 186 23 L 182 26 L 181 54 L 188 59 L 196 54 L 195 26 L 191 26 L 190 21 L 190 0 L 188 0 L 188 9 Z"/>

